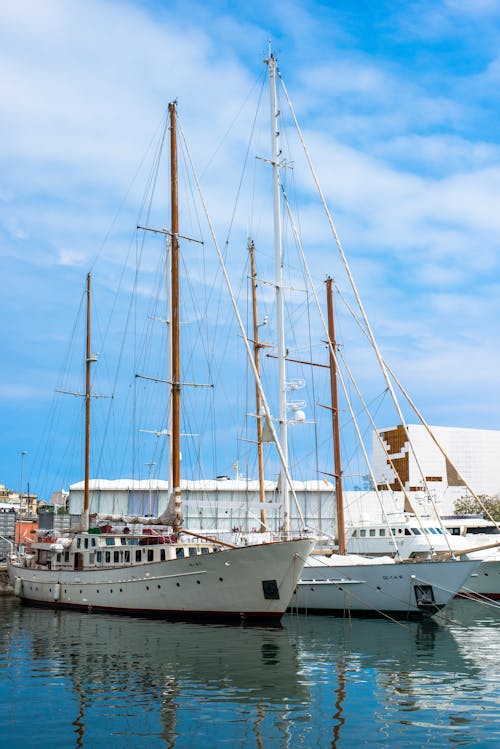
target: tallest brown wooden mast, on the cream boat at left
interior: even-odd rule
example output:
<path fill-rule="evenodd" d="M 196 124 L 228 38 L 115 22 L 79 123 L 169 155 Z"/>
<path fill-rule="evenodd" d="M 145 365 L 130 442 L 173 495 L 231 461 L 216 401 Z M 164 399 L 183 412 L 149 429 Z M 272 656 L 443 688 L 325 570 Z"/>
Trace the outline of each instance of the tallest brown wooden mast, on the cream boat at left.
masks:
<path fill-rule="evenodd" d="M 172 488 L 175 503 L 174 531 L 181 520 L 181 360 L 180 360 L 180 289 L 179 289 L 179 204 L 177 178 L 177 110 L 176 102 L 168 105 L 170 114 L 170 206 L 171 206 L 171 345 L 172 345 Z"/>

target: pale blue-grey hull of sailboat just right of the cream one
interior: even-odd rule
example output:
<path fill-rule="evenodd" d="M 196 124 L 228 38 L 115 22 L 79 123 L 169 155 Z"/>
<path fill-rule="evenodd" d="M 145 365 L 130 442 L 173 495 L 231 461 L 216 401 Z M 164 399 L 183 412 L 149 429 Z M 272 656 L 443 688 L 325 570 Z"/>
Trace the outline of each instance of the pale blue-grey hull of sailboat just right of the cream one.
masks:
<path fill-rule="evenodd" d="M 336 564 L 325 557 L 312 557 L 302 571 L 292 606 L 347 615 L 432 615 L 456 595 L 478 564 L 378 560 L 373 564 Z"/>

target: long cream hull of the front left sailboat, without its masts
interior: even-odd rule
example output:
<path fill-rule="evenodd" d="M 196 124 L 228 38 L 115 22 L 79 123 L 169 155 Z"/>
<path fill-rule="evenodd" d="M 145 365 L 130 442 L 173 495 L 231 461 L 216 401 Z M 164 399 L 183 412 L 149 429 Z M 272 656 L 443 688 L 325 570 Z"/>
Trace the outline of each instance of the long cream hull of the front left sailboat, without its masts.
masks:
<path fill-rule="evenodd" d="M 124 614 L 279 619 L 311 546 L 309 540 L 285 541 L 82 571 L 30 569 L 12 559 L 8 572 L 16 595 L 33 604 Z"/>

